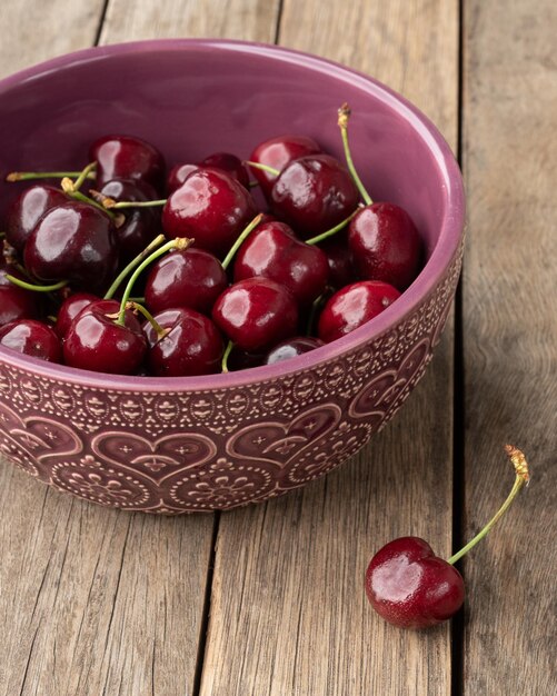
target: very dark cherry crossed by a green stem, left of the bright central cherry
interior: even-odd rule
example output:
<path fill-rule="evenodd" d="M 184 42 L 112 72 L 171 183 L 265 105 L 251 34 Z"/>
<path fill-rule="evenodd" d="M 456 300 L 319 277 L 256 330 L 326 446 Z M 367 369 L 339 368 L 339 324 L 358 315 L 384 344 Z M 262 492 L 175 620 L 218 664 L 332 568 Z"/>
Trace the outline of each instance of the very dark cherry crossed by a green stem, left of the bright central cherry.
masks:
<path fill-rule="evenodd" d="M 113 179 L 100 189 L 102 196 L 116 201 L 142 202 L 155 200 L 157 192 L 145 182 Z M 160 232 L 160 211 L 157 208 L 127 208 L 125 222 L 117 227 L 120 266 L 126 266 Z"/>

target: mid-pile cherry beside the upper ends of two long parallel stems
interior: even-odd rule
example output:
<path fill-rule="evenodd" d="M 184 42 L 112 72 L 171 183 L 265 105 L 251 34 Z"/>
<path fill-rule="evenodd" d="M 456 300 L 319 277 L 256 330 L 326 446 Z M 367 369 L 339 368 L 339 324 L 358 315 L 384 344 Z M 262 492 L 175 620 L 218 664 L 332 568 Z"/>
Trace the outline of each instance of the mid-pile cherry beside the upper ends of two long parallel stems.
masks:
<path fill-rule="evenodd" d="M 217 257 L 189 247 L 172 251 L 157 261 L 147 278 L 146 305 L 151 312 L 189 307 L 210 315 L 216 299 L 228 286 Z"/>

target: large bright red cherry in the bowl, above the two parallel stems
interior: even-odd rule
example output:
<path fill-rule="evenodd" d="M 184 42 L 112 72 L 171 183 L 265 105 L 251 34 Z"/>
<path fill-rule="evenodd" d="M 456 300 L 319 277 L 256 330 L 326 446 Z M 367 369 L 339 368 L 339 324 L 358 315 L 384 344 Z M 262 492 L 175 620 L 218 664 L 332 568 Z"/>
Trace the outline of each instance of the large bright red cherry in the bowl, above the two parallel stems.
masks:
<path fill-rule="evenodd" d="M 168 198 L 162 227 L 169 239 L 193 238 L 196 247 L 220 257 L 255 216 L 241 183 L 218 169 L 198 169 Z"/>

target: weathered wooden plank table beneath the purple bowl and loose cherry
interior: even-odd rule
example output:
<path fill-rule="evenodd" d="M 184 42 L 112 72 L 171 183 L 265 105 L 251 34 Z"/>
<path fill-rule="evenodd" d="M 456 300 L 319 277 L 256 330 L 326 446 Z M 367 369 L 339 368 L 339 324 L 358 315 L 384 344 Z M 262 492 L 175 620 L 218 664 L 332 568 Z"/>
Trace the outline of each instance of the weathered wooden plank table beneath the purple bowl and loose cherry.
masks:
<path fill-rule="evenodd" d="M 468 242 L 422 382 L 299 493 L 155 518 L 2 464 L 2 696 L 556 693 L 556 28 L 554 0 L 3 0 L 2 74 L 93 43 L 210 36 L 376 76 L 459 155 Z M 406 534 L 458 548 L 510 488 L 507 440 L 533 485 L 464 561 L 464 613 L 428 633 L 382 623 L 362 589 L 374 549 Z"/>

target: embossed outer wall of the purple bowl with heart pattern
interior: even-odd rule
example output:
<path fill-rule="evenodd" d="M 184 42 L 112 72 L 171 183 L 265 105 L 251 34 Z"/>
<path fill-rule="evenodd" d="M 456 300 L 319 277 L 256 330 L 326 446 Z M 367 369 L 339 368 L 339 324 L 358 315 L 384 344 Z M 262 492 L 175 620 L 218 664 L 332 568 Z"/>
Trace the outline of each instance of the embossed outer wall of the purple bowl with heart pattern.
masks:
<path fill-rule="evenodd" d="M 0 359 L 0 451 L 54 488 L 127 510 L 228 509 L 298 488 L 351 457 L 406 400 L 440 339 L 461 253 L 402 321 L 272 380 L 98 389 Z"/>

